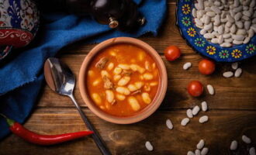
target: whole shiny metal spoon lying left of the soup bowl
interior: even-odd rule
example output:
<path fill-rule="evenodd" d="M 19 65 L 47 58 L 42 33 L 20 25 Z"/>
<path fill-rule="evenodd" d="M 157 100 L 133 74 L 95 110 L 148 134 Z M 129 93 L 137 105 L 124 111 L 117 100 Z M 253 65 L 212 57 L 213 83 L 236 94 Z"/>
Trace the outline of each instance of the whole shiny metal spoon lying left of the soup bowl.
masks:
<path fill-rule="evenodd" d="M 104 155 L 111 154 L 106 144 L 103 142 L 102 138 L 99 136 L 99 133 L 92 126 L 92 123 L 88 120 L 85 113 L 81 110 L 80 106 L 74 99 L 73 91 L 75 85 L 75 77 L 72 71 L 63 64 L 60 60 L 54 57 L 50 57 L 44 63 L 44 76 L 49 87 L 56 91 L 60 95 L 66 95 L 71 98 L 74 102 L 75 107 L 78 109 L 81 119 L 85 122 L 85 125 L 88 126 L 88 129 L 92 130 L 92 138 L 99 147 L 99 150 Z"/>

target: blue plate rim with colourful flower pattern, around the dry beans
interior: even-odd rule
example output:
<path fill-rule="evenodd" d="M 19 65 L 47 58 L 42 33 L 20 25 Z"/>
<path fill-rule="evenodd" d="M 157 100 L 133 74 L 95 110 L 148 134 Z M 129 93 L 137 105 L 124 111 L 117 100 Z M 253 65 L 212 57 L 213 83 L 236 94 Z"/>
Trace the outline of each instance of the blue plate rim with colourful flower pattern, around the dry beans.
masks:
<path fill-rule="evenodd" d="M 202 53 L 216 61 L 234 62 L 244 60 L 256 54 L 256 35 L 247 44 L 236 45 L 229 48 L 220 47 L 219 44 L 210 43 L 195 26 L 192 16 L 194 0 L 178 0 L 176 7 L 176 24 L 182 37 L 195 51 Z"/>

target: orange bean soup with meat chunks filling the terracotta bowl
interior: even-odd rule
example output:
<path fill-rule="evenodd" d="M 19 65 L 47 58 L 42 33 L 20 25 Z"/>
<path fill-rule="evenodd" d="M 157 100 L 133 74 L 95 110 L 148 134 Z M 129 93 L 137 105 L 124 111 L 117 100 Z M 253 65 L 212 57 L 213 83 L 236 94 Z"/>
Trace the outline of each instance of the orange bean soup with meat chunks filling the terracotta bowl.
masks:
<path fill-rule="evenodd" d="M 139 112 L 153 101 L 158 68 L 150 55 L 131 44 L 102 50 L 88 67 L 87 89 L 92 101 L 111 115 Z"/>

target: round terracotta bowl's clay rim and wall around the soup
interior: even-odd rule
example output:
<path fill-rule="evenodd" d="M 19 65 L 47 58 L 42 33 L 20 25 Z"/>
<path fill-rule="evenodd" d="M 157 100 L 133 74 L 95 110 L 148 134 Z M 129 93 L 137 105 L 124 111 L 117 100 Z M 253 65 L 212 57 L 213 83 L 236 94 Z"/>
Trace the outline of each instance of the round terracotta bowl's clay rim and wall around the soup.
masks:
<path fill-rule="evenodd" d="M 97 53 L 101 52 L 102 49 L 117 43 L 130 43 L 144 49 L 154 59 L 159 70 L 160 80 L 159 80 L 159 85 L 157 89 L 157 94 L 155 95 L 153 101 L 150 103 L 150 105 L 147 105 L 146 108 L 130 116 L 116 116 L 116 115 L 110 115 L 106 112 L 103 112 L 100 108 L 98 108 L 95 105 L 94 102 L 92 102 L 92 99 L 89 97 L 88 90 L 86 87 L 86 80 L 87 80 L 86 75 L 87 75 L 88 66 L 91 60 L 95 57 Z M 87 57 L 85 57 L 85 60 L 81 64 L 81 69 L 79 72 L 79 88 L 81 92 L 81 97 L 83 98 L 86 105 L 88 105 L 88 108 L 90 108 L 90 110 L 93 113 L 95 113 L 95 115 L 98 115 L 101 119 L 104 119 L 109 122 L 114 122 L 117 124 L 130 124 L 134 122 L 139 122 L 143 119 L 146 119 L 148 116 L 150 116 L 161 105 L 161 102 L 163 101 L 164 95 L 167 90 L 167 84 L 168 84 L 168 78 L 167 78 L 166 68 L 164 66 L 163 60 L 161 60 L 161 57 L 158 55 L 157 51 L 154 50 L 154 48 L 150 47 L 150 45 L 148 45 L 147 43 L 144 43 L 141 40 L 137 40 L 130 37 L 117 37 L 117 38 L 112 38 L 112 39 L 103 41 L 102 43 L 99 43 L 90 51 L 90 53 L 88 53 Z"/>

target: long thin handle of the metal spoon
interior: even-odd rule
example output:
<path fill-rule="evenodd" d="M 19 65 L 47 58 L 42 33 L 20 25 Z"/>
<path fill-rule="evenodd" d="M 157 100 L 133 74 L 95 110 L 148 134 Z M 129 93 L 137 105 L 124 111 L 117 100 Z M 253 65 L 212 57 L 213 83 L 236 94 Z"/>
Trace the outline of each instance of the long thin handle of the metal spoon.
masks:
<path fill-rule="evenodd" d="M 89 119 L 86 117 L 85 113 L 81 110 L 80 106 L 75 101 L 74 95 L 69 95 L 69 97 L 71 98 L 72 102 L 74 102 L 74 105 L 78 109 L 78 112 L 81 115 L 81 119 L 83 119 L 83 121 L 85 122 L 85 125 L 88 127 L 88 129 L 90 129 L 91 131 L 94 132 L 92 134 L 92 138 L 95 141 L 95 143 L 97 144 L 97 146 L 99 147 L 99 150 L 102 152 L 103 155 L 111 155 L 108 147 L 103 142 L 102 137 L 99 136 L 99 133 L 97 132 L 97 130 L 94 128 L 94 126 L 92 126 L 92 123 L 89 121 Z"/>

